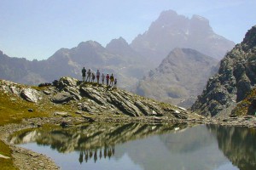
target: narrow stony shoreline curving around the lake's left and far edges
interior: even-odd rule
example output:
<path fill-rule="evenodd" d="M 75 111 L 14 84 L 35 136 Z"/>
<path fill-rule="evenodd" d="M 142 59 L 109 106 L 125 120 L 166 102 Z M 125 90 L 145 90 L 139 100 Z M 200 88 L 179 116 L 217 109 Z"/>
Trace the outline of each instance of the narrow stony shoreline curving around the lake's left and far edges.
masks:
<path fill-rule="evenodd" d="M 13 161 L 15 167 L 19 169 L 60 169 L 55 162 L 48 156 L 35 153 L 32 150 L 20 148 L 15 144 L 9 144 L 9 137 L 11 134 L 26 128 L 41 127 L 44 124 L 60 125 L 61 122 L 67 122 L 70 126 L 82 122 L 88 122 L 82 117 L 41 117 L 23 120 L 19 124 L 8 124 L 0 127 L 0 139 L 8 144 L 12 150 Z M 154 123 L 154 122 L 170 122 L 170 123 L 188 123 L 189 125 L 195 124 L 218 124 L 222 126 L 239 126 L 239 127 L 256 127 L 256 116 L 243 116 L 243 117 L 226 117 L 224 119 L 189 119 L 189 120 L 173 120 L 161 117 L 133 117 L 133 118 L 105 118 L 97 119 L 96 122 L 141 122 L 141 123 Z M 93 123 L 93 122 L 92 122 Z"/>

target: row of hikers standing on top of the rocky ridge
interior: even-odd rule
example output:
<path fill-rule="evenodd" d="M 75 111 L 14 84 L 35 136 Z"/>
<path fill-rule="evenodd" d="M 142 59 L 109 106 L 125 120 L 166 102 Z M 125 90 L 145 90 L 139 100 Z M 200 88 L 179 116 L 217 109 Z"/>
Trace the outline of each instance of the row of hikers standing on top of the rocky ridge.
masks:
<path fill-rule="evenodd" d="M 107 82 L 107 86 L 114 86 L 116 87 L 117 85 L 117 79 L 113 78 L 113 74 L 111 74 L 111 76 L 109 76 L 108 74 L 105 76 L 104 73 L 101 73 L 99 70 L 96 71 L 96 75 L 90 71 L 90 69 L 87 71 L 87 77 L 86 77 L 86 69 L 83 68 L 82 69 L 82 77 L 83 77 L 83 82 L 94 82 L 95 78 L 97 79 L 97 83 L 100 83 L 100 77 L 102 77 L 102 84 L 104 84 L 105 78 L 106 78 L 106 82 Z M 86 77 L 86 79 L 85 79 Z"/>

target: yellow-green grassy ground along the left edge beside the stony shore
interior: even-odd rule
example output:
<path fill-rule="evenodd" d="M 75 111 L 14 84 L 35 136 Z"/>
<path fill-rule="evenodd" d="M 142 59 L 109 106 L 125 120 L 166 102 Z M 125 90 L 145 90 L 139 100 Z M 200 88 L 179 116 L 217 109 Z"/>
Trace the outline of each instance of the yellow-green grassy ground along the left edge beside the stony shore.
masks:
<path fill-rule="evenodd" d="M 42 90 L 43 88 L 37 89 Z M 28 109 L 32 109 L 33 112 L 29 112 Z M 51 102 L 46 102 L 46 99 L 42 99 L 38 104 L 34 104 L 20 99 L 19 96 L 14 94 L 0 93 L 0 126 L 8 123 L 19 123 L 23 118 L 51 116 L 53 111 L 68 112 L 71 110 L 71 105 L 53 105 Z M 0 154 L 11 157 L 9 146 L 1 140 Z M 16 169 L 13 165 L 12 157 L 11 159 L 0 158 L 0 167 L 0 169 Z"/>

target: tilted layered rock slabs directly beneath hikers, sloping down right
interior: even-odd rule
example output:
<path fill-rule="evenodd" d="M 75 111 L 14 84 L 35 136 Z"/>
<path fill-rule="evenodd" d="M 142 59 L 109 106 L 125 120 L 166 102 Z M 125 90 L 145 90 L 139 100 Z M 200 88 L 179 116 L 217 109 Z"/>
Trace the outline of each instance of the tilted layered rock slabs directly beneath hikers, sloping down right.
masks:
<path fill-rule="evenodd" d="M 167 114 L 173 118 L 188 118 L 188 113 L 182 109 L 172 105 L 163 106 L 152 99 L 146 99 L 119 88 L 80 82 L 70 77 L 61 77 L 57 84 L 56 94 L 53 94 L 51 100 L 55 103 L 77 100 L 79 111 L 91 114 L 106 111 L 115 114 L 125 113 L 127 116 L 164 116 Z M 57 99 L 58 97 L 60 99 Z M 177 112 L 180 116 L 177 116 Z"/>

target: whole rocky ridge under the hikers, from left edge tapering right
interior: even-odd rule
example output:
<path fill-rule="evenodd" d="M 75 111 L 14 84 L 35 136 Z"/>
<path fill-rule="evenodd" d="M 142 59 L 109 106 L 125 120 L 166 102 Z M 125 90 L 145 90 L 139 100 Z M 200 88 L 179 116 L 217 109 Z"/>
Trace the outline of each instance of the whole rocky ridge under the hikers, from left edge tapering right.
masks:
<path fill-rule="evenodd" d="M 177 106 L 146 99 L 119 88 L 81 82 L 72 77 L 61 77 L 59 81 L 54 82 L 54 86 L 36 89 L 9 81 L 0 82 L 0 90 L 3 93 L 20 96 L 36 105 L 69 105 L 69 115 L 76 112 L 85 116 L 157 116 L 183 120 L 196 117 Z M 34 100 L 24 98 L 24 91 L 31 94 Z"/>

